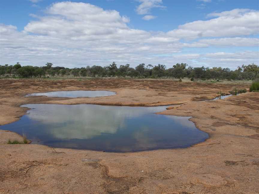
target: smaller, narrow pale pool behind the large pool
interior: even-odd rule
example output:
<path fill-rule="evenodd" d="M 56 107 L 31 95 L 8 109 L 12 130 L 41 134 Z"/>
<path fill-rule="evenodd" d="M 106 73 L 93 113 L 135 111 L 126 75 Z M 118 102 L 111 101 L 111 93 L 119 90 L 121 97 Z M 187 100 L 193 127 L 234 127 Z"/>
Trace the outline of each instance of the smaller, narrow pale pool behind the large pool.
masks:
<path fill-rule="evenodd" d="M 45 93 L 31 93 L 27 96 L 49 96 L 49 97 L 68 97 L 68 98 L 77 98 L 77 97 L 101 97 L 101 96 L 112 96 L 115 95 L 115 92 L 110 91 L 57 91 L 57 92 L 45 92 Z"/>

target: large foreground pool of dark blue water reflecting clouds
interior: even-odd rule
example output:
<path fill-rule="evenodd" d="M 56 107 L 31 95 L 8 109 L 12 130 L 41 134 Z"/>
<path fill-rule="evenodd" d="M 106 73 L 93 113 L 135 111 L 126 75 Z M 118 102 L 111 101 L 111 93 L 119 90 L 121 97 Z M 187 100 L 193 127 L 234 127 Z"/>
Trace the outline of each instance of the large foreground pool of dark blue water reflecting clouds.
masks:
<path fill-rule="evenodd" d="M 130 152 L 184 148 L 204 141 L 190 117 L 153 114 L 160 107 L 94 104 L 25 104 L 28 114 L 0 129 L 26 134 L 32 143 L 52 147 Z"/>

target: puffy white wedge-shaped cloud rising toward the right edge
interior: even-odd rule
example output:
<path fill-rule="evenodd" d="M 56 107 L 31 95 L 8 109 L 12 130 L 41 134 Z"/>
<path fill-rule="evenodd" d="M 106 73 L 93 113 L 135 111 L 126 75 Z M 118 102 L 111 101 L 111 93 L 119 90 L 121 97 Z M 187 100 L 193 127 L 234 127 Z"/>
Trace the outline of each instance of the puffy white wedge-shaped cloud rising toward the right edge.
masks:
<path fill-rule="evenodd" d="M 180 25 L 178 29 L 169 31 L 168 35 L 185 39 L 253 35 L 259 31 L 258 18 L 258 11 L 238 12 L 236 15 L 232 13 L 215 19 Z"/>

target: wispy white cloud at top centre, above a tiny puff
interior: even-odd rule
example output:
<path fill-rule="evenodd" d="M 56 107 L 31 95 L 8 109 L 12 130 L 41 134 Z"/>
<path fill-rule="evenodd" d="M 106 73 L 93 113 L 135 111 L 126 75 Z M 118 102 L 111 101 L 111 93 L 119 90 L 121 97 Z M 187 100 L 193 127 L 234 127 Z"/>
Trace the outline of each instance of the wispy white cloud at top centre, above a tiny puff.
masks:
<path fill-rule="evenodd" d="M 136 8 L 136 12 L 138 14 L 147 14 L 150 12 L 150 10 L 154 7 L 158 8 L 166 8 L 162 5 L 162 0 L 138 0 L 141 4 Z"/>

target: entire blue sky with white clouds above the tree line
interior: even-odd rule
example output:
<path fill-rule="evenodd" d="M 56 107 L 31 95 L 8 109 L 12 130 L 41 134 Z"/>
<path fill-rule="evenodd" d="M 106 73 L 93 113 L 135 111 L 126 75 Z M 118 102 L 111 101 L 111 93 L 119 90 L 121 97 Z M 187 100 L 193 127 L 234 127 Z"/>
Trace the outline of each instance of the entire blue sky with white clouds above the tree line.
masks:
<path fill-rule="evenodd" d="M 259 64 L 259 0 L 2 0 L 0 65 Z"/>

